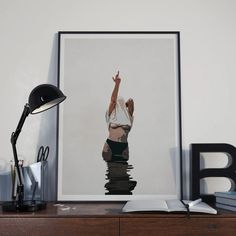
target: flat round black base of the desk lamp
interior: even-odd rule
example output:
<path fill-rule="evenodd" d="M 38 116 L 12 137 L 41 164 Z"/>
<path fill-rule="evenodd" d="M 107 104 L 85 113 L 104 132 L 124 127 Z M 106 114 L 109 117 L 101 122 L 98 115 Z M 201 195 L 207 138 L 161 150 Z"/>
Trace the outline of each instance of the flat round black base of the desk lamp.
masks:
<path fill-rule="evenodd" d="M 47 203 L 45 201 L 10 201 L 2 203 L 3 211 L 11 211 L 11 212 L 34 212 L 38 210 L 43 210 L 47 207 Z"/>

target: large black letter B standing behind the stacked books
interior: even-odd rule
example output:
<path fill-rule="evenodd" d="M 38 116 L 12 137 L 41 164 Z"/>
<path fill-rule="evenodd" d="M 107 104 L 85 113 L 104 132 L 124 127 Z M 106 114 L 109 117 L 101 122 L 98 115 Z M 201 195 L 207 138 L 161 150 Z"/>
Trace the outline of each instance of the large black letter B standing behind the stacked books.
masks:
<path fill-rule="evenodd" d="M 206 168 L 200 170 L 201 153 L 226 153 L 229 164 L 223 168 Z M 207 177 L 225 177 L 231 182 L 230 191 L 235 191 L 236 183 L 236 148 L 227 143 L 194 143 L 190 146 L 190 198 L 199 197 L 205 202 L 215 202 L 213 194 L 200 193 L 200 180 Z"/>

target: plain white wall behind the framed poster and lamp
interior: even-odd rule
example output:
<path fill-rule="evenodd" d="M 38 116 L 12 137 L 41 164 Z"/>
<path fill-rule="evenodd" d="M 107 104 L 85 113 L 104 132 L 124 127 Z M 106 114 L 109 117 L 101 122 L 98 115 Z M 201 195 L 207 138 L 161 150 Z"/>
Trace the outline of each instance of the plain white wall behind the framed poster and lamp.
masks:
<path fill-rule="evenodd" d="M 30 91 L 56 84 L 58 31 L 180 31 L 183 148 L 192 142 L 236 145 L 235 12 L 234 0 L 0 0 L 0 171 L 12 159 L 10 134 Z M 49 145 L 53 170 L 55 120 L 56 109 L 26 120 L 18 151 L 28 163 L 39 145 Z"/>

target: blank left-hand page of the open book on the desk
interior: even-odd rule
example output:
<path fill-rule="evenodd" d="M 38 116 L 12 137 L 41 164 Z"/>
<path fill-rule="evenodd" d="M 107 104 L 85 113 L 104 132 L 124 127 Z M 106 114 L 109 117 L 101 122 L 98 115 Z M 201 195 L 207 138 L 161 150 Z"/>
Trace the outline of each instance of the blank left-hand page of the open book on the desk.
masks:
<path fill-rule="evenodd" d="M 132 211 L 169 211 L 165 200 L 132 200 L 128 201 L 122 209 L 123 212 Z"/>

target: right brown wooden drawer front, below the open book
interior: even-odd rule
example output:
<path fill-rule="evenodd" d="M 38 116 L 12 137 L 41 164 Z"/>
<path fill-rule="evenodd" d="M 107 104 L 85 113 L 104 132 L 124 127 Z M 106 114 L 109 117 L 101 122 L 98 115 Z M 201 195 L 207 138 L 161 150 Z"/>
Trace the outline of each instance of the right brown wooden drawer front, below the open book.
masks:
<path fill-rule="evenodd" d="M 235 218 L 122 218 L 120 236 L 236 235 Z"/>

